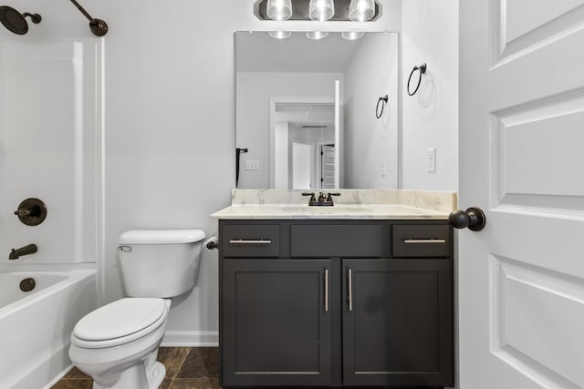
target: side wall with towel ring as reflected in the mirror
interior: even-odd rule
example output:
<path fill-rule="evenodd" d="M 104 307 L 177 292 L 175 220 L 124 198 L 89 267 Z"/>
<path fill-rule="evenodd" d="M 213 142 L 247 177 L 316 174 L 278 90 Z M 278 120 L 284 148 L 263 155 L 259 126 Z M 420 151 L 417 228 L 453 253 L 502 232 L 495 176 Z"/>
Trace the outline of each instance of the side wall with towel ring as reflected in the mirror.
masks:
<path fill-rule="evenodd" d="M 397 189 L 398 53 L 397 34 L 366 35 L 345 69 L 345 188 Z M 375 108 L 385 95 L 378 119 Z"/>

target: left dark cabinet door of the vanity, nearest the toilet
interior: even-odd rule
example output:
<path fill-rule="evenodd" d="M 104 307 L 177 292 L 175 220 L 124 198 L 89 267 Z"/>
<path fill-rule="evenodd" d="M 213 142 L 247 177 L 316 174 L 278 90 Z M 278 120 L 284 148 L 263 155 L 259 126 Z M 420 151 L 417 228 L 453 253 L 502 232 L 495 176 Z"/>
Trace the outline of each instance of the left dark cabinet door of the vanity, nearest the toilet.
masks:
<path fill-rule="evenodd" d="M 224 386 L 330 383 L 330 270 L 330 260 L 223 261 Z"/>

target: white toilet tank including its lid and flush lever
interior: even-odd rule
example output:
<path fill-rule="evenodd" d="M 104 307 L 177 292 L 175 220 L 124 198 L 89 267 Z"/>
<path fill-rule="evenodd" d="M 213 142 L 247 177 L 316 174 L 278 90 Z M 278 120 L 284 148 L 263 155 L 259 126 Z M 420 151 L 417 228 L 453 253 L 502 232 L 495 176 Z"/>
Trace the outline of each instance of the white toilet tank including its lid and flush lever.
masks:
<path fill-rule="evenodd" d="M 130 297 L 189 292 L 199 270 L 203 230 L 129 230 L 120 235 L 121 274 Z"/>

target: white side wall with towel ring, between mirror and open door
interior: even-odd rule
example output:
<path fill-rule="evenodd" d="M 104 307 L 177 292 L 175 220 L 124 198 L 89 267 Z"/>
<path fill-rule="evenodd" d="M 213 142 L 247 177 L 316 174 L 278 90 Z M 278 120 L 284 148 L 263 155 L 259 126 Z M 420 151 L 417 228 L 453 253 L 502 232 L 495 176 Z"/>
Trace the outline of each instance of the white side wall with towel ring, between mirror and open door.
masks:
<path fill-rule="evenodd" d="M 401 12 L 401 188 L 457 191 L 458 0 L 407 0 Z M 428 69 L 410 97 L 405 84 L 422 62 Z M 436 172 L 428 173 L 426 150 L 433 147 Z"/>

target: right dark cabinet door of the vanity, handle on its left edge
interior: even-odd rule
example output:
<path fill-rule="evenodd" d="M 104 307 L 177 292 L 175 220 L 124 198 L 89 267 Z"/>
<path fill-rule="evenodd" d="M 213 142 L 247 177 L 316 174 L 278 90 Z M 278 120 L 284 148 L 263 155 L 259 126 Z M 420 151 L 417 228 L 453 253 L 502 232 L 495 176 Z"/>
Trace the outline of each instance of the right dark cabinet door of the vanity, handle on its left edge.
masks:
<path fill-rule="evenodd" d="M 450 260 L 343 260 L 345 385 L 454 384 L 452 272 Z"/>

